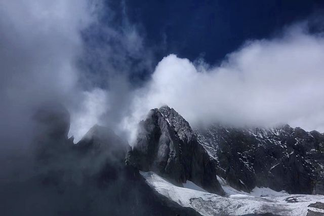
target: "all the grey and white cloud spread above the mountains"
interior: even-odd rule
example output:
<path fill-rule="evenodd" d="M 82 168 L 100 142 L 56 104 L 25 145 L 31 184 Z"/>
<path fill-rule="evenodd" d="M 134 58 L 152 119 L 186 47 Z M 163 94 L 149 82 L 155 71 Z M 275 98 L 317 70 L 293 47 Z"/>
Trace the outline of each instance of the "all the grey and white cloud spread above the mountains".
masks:
<path fill-rule="evenodd" d="M 0 2 L 3 146 L 25 140 L 35 106 L 53 101 L 69 109 L 76 141 L 96 123 L 132 140 L 138 121 L 164 104 L 192 125 L 324 131 L 324 39 L 305 23 L 249 41 L 220 65 L 169 55 L 154 70 L 136 25 L 125 12 L 113 25 L 103 5 L 97 2 L 94 18 L 86 0 Z M 138 77 L 149 69 L 145 83 Z"/>

